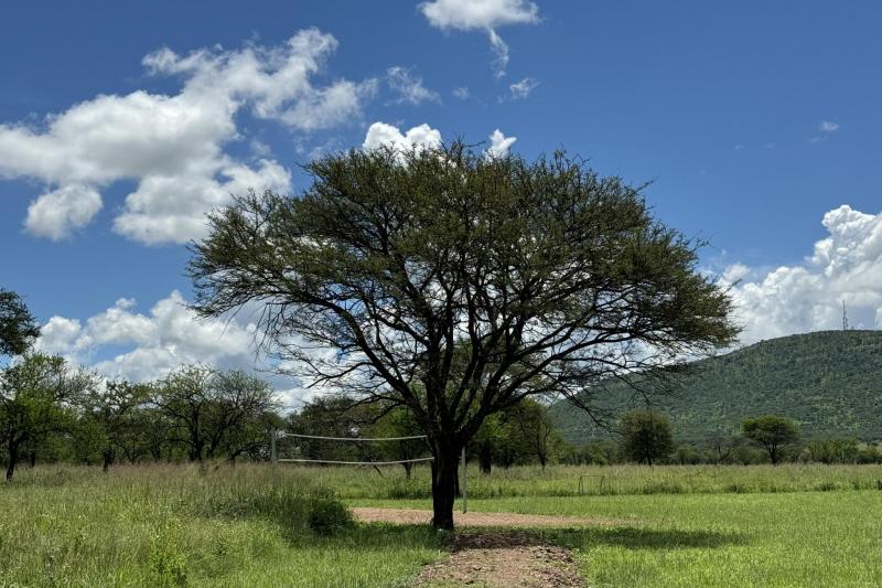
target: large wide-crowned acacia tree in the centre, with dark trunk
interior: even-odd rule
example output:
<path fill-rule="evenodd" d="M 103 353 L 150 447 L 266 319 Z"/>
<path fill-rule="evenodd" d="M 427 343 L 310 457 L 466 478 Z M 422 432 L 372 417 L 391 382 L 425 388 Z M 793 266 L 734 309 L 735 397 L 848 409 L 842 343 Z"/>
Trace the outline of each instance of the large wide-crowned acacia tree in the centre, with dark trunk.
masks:
<path fill-rule="evenodd" d="M 456 458 L 490 415 L 548 393 L 590 410 L 599 379 L 736 334 L 696 244 L 581 160 L 454 143 L 306 170 L 299 196 L 248 194 L 209 217 L 194 308 L 257 308 L 261 344 L 303 382 L 407 407 L 434 457 L 438 527 L 453 525 Z"/>

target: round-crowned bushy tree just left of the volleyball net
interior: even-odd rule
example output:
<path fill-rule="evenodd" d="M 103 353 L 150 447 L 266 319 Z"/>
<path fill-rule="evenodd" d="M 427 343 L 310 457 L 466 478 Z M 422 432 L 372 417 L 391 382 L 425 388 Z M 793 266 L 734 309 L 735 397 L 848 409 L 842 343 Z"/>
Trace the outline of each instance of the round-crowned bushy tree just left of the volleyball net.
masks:
<path fill-rule="evenodd" d="M 169 374 L 152 403 L 172 424 L 170 440 L 186 446 L 190 460 L 200 462 L 229 450 L 241 428 L 275 406 L 271 388 L 260 378 L 201 365 Z"/>

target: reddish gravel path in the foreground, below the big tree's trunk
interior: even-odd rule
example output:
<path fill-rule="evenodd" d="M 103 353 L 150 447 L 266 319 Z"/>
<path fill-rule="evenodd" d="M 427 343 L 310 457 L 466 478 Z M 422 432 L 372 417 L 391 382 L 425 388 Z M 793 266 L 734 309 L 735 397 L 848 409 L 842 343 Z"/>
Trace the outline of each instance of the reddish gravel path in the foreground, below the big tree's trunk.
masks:
<path fill-rule="evenodd" d="M 426 566 L 415 586 L 581 588 L 585 582 L 567 549 L 512 531 L 458 535 L 453 553 Z"/>

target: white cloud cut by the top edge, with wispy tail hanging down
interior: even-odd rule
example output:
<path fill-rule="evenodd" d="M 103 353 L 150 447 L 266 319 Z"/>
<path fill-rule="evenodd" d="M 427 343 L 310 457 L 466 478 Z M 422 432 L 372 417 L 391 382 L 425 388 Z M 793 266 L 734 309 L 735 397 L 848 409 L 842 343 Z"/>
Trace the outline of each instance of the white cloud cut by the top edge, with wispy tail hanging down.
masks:
<path fill-rule="evenodd" d="M 490 38 L 496 76 L 505 75 L 508 45 L 496 33 L 507 24 L 536 24 L 539 7 L 528 0 L 432 0 L 420 10 L 437 29 L 461 31 L 483 30 Z"/>

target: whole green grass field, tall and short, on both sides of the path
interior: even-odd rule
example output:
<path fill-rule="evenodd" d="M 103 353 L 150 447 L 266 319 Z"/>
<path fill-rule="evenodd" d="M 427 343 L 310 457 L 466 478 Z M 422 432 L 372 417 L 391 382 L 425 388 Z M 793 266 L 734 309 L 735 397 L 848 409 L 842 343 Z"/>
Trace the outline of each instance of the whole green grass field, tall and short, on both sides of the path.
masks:
<path fill-rule="evenodd" d="M 578 495 L 569 468 L 472 473 L 470 509 L 619 521 L 538 532 L 573 549 L 592 586 L 882 585 L 879 468 L 599 470 L 619 480 L 614 491 L 587 479 Z M 389 498 L 408 485 L 398 470 L 20 473 L 0 487 L 0 586 L 407 586 L 444 554 L 444 537 L 424 527 L 347 525 L 321 490 L 351 505 L 428 507 Z"/>

